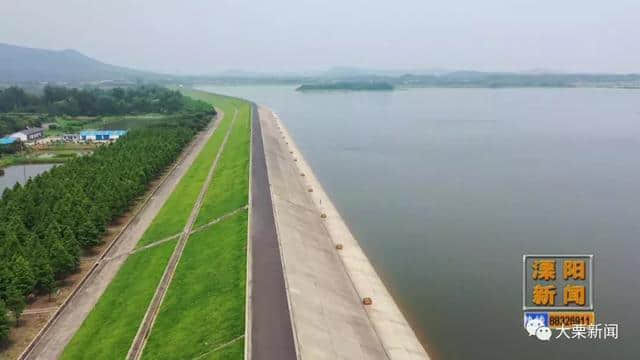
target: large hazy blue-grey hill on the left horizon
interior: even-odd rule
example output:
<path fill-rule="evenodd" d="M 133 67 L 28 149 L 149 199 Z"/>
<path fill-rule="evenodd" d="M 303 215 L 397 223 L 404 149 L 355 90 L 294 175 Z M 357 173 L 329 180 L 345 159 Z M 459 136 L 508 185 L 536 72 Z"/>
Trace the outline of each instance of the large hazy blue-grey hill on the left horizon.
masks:
<path fill-rule="evenodd" d="M 75 50 L 0 43 L 0 83 L 135 81 L 162 75 L 105 64 Z"/>

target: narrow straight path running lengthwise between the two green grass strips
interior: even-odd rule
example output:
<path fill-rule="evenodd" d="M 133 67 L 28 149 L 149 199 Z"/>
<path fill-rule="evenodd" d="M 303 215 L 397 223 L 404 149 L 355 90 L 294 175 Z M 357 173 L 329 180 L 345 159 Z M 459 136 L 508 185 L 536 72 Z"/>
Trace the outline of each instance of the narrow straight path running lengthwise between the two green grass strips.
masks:
<path fill-rule="evenodd" d="M 238 109 L 235 109 L 233 114 L 233 119 L 231 120 L 231 125 L 227 130 L 227 133 L 224 136 L 224 140 L 222 140 L 222 144 L 220 145 L 220 149 L 218 150 L 218 154 L 216 158 L 213 160 L 213 165 L 211 165 L 211 169 L 207 174 L 207 178 L 202 184 L 202 188 L 200 189 L 200 193 L 198 194 L 198 198 L 196 199 L 195 204 L 193 205 L 193 209 L 191 210 L 191 214 L 189 215 L 189 219 L 187 220 L 187 224 L 182 231 L 180 239 L 178 240 L 178 244 L 173 250 L 173 254 L 171 254 L 171 258 L 169 259 L 169 263 L 164 270 L 164 274 L 162 275 L 162 279 L 160 279 L 160 283 L 156 288 L 156 293 L 151 300 L 151 304 L 149 304 L 149 308 L 147 309 L 147 313 L 144 315 L 142 319 L 142 323 L 140 324 L 140 328 L 138 329 L 138 333 L 136 337 L 133 339 L 133 343 L 131 344 L 131 348 L 129 349 L 129 353 L 127 354 L 127 359 L 130 360 L 138 360 L 142 357 L 142 351 L 144 350 L 144 346 L 147 343 L 147 339 L 149 334 L 151 333 L 151 329 L 153 328 L 153 324 L 158 316 L 158 311 L 160 310 L 160 306 L 162 305 L 162 301 L 164 300 L 165 295 L 167 294 L 167 290 L 169 289 L 169 285 L 171 284 L 171 280 L 173 279 L 173 274 L 178 267 L 178 263 L 180 262 L 180 257 L 182 257 L 182 252 L 184 251 L 185 246 L 187 245 L 187 240 L 191 235 L 191 230 L 193 228 L 193 224 L 198 217 L 198 213 L 200 213 L 200 208 L 202 207 L 202 201 L 204 200 L 204 196 L 209 189 L 209 184 L 211 184 L 211 180 L 213 179 L 213 174 L 218 166 L 218 161 L 224 152 L 225 145 L 227 144 L 227 140 L 229 139 L 229 135 L 231 134 L 231 130 L 233 129 L 233 125 L 236 122 L 236 118 L 238 116 Z"/>

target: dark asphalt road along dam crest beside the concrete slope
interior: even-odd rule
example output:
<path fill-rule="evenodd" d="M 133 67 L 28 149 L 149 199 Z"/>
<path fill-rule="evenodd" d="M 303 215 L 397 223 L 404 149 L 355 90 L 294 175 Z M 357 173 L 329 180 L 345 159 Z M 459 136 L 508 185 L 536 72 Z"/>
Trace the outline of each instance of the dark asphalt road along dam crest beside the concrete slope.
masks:
<path fill-rule="evenodd" d="M 296 359 L 258 109 L 253 106 L 251 161 L 251 359 Z"/>

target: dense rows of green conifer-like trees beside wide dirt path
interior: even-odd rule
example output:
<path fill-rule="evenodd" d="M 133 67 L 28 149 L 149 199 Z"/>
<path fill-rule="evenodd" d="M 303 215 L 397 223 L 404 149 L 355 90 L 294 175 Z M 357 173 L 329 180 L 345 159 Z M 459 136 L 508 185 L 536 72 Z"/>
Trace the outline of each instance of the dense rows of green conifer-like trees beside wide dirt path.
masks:
<path fill-rule="evenodd" d="M 182 96 L 182 95 L 180 95 Z M 179 116 L 130 131 L 92 156 L 70 160 L 0 198 L 0 341 L 7 309 L 17 321 L 31 294 L 48 294 L 100 243 L 107 225 L 141 196 L 214 113 L 182 101 Z"/>

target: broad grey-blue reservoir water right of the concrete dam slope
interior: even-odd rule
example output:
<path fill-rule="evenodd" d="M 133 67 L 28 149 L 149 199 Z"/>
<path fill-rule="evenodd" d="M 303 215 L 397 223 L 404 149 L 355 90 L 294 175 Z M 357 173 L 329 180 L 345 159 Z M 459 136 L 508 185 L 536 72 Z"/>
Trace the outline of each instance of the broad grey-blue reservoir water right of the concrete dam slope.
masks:
<path fill-rule="evenodd" d="M 280 115 L 433 358 L 640 357 L 640 91 L 202 89 Z M 619 339 L 528 337 L 523 254 L 594 254 Z"/>

